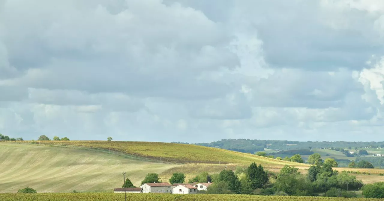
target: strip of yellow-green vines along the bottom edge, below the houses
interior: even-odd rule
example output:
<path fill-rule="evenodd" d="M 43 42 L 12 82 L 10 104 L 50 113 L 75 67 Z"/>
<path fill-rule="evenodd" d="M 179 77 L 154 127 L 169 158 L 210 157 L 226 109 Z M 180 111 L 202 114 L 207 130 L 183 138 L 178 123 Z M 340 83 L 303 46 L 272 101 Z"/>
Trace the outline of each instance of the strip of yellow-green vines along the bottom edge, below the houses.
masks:
<path fill-rule="evenodd" d="M 118 201 L 124 200 L 124 193 L 34 193 L 34 194 L 0 194 L 1 201 Z M 327 198 L 297 196 L 257 196 L 240 194 L 162 194 L 127 193 L 128 201 L 379 201 L 369 198 Z"/>

